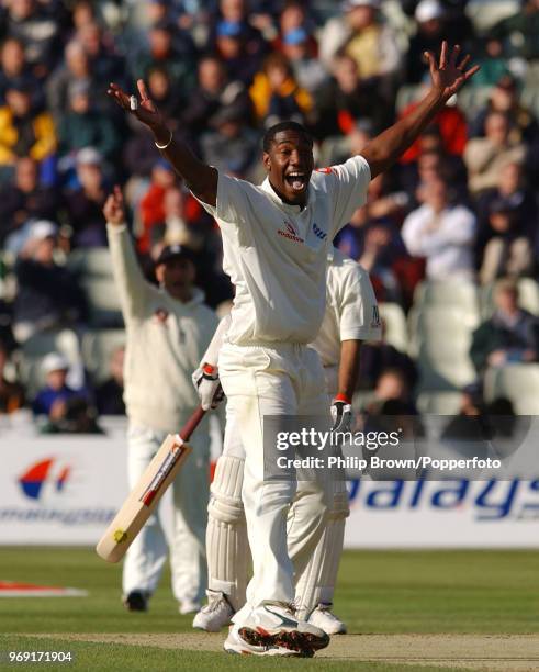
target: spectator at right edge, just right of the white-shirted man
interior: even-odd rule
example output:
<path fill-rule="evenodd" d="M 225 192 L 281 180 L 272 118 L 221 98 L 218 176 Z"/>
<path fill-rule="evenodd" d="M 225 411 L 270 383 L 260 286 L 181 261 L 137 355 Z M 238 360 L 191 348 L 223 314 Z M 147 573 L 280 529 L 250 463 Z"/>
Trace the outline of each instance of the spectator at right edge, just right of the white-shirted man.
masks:
<path fill-rule="evenodd" d="M 510 200 L 496 199 L 489 208 L 489 242 L 480 270 L 482 284 L 496 278 L 518 278 L 534 270 L 534 248 L 526 236 L 518 206 Z"/>

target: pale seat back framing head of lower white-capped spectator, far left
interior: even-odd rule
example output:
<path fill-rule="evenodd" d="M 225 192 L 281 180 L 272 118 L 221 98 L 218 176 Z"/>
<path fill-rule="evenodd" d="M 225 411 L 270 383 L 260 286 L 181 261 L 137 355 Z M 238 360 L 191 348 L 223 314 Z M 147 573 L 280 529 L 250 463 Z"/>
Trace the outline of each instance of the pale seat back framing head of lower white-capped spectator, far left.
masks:
<path fill-rule="evenodd" d="M 24 343 L 18 362 L 21 382 L 25 385 L 30 399 L 45 382 L 45 374 L 41 366 L 43 358 L 54 351 L 64 355 L 71 365 L 68 382 L 72 387 L 82 384 L 82 357 L 77 334 L 71 329 L 43 332 L 35 334 Z"/>

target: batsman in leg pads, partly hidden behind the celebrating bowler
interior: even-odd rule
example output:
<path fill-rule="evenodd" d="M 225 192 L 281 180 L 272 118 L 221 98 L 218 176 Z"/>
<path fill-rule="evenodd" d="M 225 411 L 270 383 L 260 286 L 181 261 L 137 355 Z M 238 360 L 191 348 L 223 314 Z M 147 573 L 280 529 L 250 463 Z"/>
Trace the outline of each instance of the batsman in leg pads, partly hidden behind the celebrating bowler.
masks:
<path fill-rule="evenodd" d="M 369 275 L 338 249 L 329 258 L 326 302 L 324 321 L 312 347 L 324 367 L 328 403 L 333 400 L 334 429 L 348 432 L 361 341 L 379 340 L 381 325 Z M 201 367 L 193 373 L 202 405 L 210 404 L 218 389 L 217 356 L 229 322 L 229 316 L 222 320 Z M 244 605 L 250 555 L 242 504 L 245 450 L 234 417 L 228 414 L 227 418 L 229 425 L 207 507 L 207 604 L 193 619 L 194 628 L 210 632 L 221 630 Z M 302 509 L 292 505 L 290 515 L 301 514 Z M 348 514 L 345 482 L 335 481 L 326 527 L 295 586 L 296 616 L 328 635 L 346 632 L 332 605 Z M 303 526 L 307 523 L 304 520 Z"/>

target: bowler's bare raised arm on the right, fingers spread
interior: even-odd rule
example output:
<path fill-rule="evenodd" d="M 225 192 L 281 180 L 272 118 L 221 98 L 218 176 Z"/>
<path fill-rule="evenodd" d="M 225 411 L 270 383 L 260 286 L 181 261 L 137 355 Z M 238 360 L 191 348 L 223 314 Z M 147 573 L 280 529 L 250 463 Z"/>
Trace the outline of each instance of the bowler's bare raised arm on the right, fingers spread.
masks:
<path fill-rule="evenodd" d="M 413 112 L 373 138 L 361 152 L 370 166 L 371 179 L 397 161 L 451 96 L 457 93 L 480 69 L 479 66 L 473 66 L 467 70 L 470 56 L 464 56 L 460 64 L 458 63 L 459 56 L 460 46 L 457 45 L 449 57 L 447 42 L 441 44 L 439 63 L 436 61 L 431 52 L 425 52 L 430 67 L 430 90 Z"/>

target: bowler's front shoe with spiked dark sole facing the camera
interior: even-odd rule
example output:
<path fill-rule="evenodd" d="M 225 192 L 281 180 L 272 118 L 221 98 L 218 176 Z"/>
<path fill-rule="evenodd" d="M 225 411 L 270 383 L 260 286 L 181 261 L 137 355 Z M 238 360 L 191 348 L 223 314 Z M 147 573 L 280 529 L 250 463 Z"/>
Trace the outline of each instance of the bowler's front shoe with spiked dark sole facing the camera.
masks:
<path fill-rule="evenodd" d="M 243 641 L 254 647 L 290 649 L 303 656 L 329 643 L 329 636 L 324 630 L 297 620 L 290 605 L 283 603 L 267 603 L 252 609 L 236 631 Z"/>

